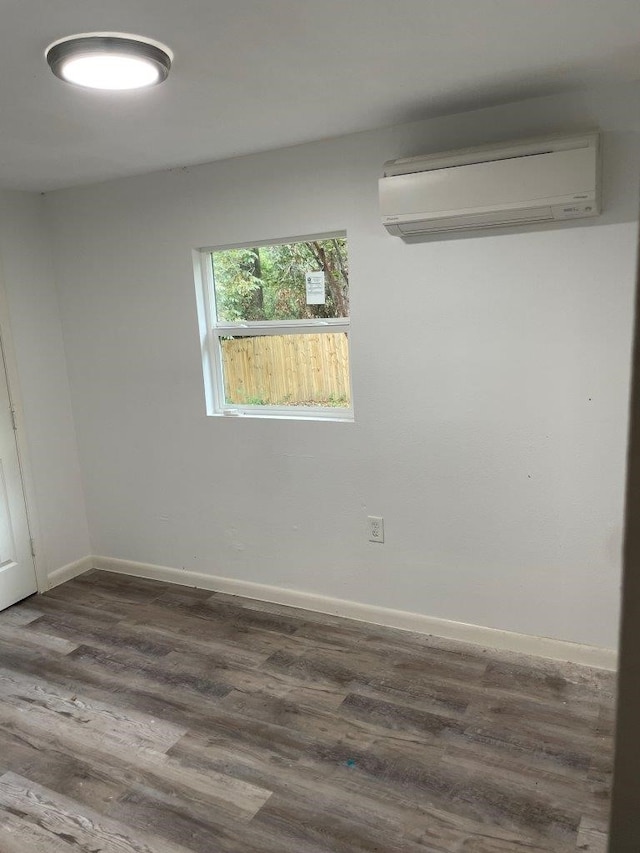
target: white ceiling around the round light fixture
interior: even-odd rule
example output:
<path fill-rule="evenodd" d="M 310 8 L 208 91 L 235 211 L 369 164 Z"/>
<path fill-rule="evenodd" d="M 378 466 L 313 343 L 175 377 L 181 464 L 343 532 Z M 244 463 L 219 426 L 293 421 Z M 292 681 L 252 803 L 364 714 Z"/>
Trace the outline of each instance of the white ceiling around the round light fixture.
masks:
<path fill-rule="evenodd" d="M 168 44 L 168 81 L 49 71 L 80 32 Z M 0 186 L 48 190 L 640 78 L 638 0 L 1 0 Z"/>

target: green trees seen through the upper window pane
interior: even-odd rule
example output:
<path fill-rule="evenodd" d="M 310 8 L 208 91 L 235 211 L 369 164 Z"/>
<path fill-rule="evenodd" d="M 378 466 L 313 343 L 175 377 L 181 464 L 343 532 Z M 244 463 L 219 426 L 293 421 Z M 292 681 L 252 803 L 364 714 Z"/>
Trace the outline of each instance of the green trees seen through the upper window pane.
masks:
<path fill-rule="evenodd" d="M 349 316 L 345 238 L 212 253 L 218 319 L 304 320 Z M 307 305 L 306 273 L 323 271 L 326 303 Z"/>

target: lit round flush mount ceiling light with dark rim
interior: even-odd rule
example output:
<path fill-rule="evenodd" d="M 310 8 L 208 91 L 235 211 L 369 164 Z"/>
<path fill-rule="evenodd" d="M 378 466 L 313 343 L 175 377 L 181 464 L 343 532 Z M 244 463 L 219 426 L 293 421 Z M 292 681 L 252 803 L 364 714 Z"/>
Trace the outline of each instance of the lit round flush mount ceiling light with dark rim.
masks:
<path fill-rule="evenodd" d="M 89 89 L 141 89 L 167 79 L 173 58 L 160 42 L 128 33 L 84 33 L 50 44 L 49 67 L 61 80 Z"/>

